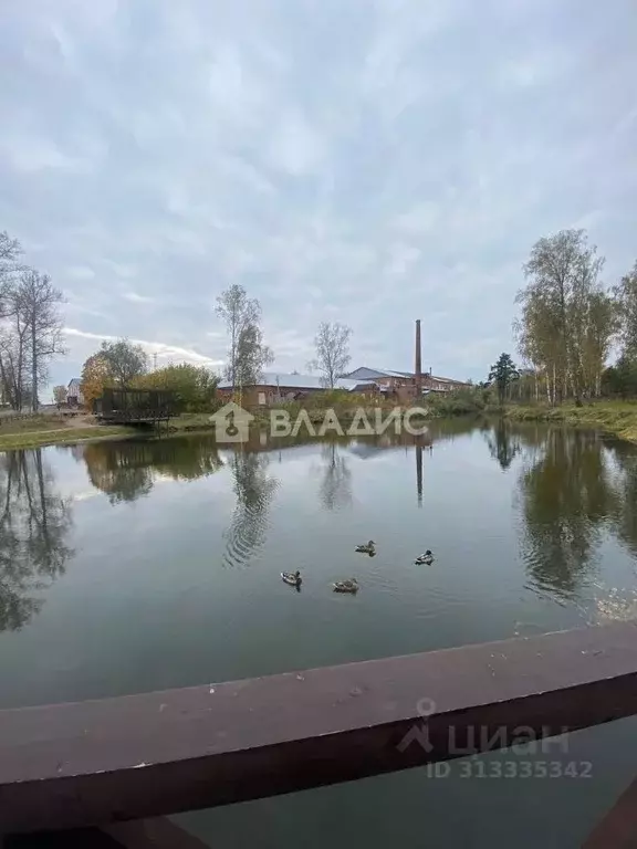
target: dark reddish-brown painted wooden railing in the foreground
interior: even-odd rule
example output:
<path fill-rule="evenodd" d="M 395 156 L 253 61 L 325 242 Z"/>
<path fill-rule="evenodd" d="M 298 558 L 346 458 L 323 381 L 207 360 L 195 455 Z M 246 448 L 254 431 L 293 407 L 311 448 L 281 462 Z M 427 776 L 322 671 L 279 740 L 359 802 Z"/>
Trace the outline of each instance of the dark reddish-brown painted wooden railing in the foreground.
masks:
<path fill-rule="evenodd" d="M 179 829 L 167 820 L 125 824 L 448 761 L 635 713 L 633 622 L 6 710 L 0 832 L 97 827 L 125 846 L 158 846 L 167 834 L 165 845 L 178 846 Z M 618 810 L 626 825 L 636 808 L 624 801 Z M 182 839 L 195 845 L 185 832 Z"/>

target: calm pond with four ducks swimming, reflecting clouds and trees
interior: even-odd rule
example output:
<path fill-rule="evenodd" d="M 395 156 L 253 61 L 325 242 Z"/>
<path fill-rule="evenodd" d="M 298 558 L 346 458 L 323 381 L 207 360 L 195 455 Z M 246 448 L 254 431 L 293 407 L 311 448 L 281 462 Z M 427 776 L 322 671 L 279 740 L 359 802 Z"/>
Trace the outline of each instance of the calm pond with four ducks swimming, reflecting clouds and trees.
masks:
<path fill-rule="evenodd" d="M 635 616 L 634 447 L 464 420 L 415 442 L 205 436 L 0 454 L 0 708 Z M 356 554 L 369 538 L 377 555 Z M 427 548 L 434 563 L 415 565 Z M 301 591 L 280 579 L 295 569 Z M 349 577 L 356 596 L 332 591 Z M 458 762 L 446 780 L 417 769 L 176 819 L 233 847 L 578 846 L 634 777 L 637 725 L 570 741 L 591 780 L 463 780 Z"/>

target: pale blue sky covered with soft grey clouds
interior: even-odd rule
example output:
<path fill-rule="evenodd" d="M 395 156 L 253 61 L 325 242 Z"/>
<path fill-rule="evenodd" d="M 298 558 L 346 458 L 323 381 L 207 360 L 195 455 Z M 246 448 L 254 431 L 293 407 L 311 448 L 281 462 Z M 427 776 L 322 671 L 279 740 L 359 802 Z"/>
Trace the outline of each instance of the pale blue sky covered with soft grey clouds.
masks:
<path fill-rule="evenodd" d="M 637 256 L 634 0 L 4 0 L 0 230 L 103 339 L 219 369 L 258 297 L 273 368 L 483 379 L 542 235 Z"/>

